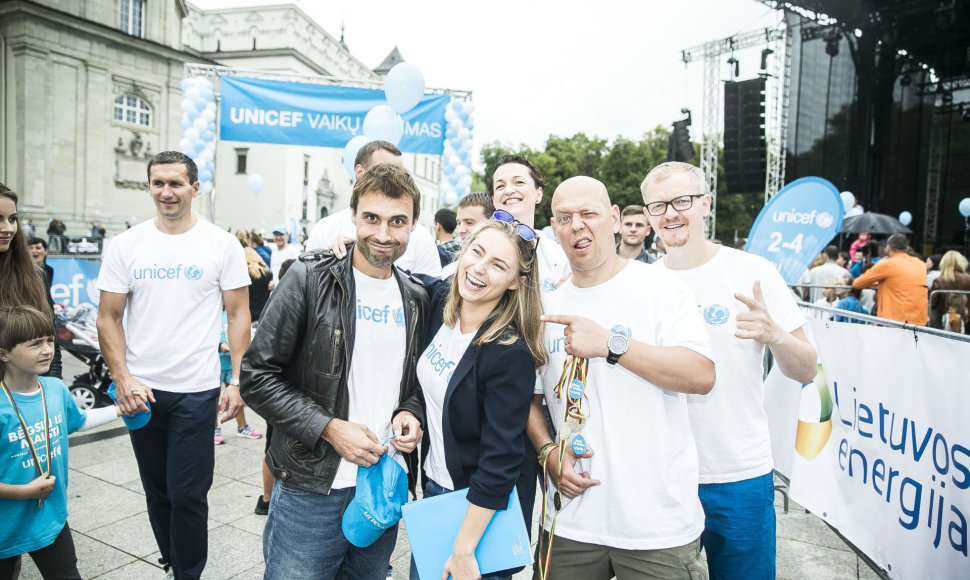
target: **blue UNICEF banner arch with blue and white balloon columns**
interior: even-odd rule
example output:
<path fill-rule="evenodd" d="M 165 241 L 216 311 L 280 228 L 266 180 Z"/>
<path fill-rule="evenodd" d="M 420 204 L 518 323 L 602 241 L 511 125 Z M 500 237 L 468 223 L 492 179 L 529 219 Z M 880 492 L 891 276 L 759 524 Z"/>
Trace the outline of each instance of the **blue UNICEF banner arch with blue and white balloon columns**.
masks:
<path fill-rule="evenodd" d="M 408 63 L 398 66 L 402 65 Z M 404 80 L 392 69 L 387 81 L 205 64 L 187 64 L 184 70 L 180 147 L 199 166 L 200 195 L 209 196 L 209 218 L 213 221 L 215 147 L 223 138 L 343 148 L 344 166 L 351 179 L 353 159 L 361 146 L 376 139 L 390 141 L 403 153 L 442 158 L 437 180 L 442 205 L 453 205 L 468 193 L 474 129 L 472 94 L 425 88 L 416 67 L 411 67 L 410 76 Z M 407 93 L 403 100 L 402 90 Z M 229 108 L 225 107 L 227 100 Z M 263 184 L 261 175 L 248 176 L 247 185 L 254 195 Z M 301 222 L 305 225 L 315 216 L 308 215 L 309 184 L 304 180 L 303 185 Z"/>

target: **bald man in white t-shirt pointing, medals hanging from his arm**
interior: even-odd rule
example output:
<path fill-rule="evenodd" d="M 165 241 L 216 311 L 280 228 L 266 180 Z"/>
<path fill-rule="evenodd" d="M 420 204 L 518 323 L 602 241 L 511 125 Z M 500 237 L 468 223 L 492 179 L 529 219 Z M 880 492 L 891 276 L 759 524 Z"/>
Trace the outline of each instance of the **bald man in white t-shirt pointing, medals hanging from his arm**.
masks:
<path fill-rule="evenodd" d="M 529 437 L 554 492 L 543 528 L 555 528 L 537 565 L 551 542 L 547 578 L 702 578 L 687 394 L 710 391 L 714 363 L 693 294 L 669 272 L 617 255 L 620 212 L 599 181 L 564 181 L 552 214 L 572 278 L 543 296 L 550 362 Z M 543 398 L 562 447 L 546 430 Z"/>

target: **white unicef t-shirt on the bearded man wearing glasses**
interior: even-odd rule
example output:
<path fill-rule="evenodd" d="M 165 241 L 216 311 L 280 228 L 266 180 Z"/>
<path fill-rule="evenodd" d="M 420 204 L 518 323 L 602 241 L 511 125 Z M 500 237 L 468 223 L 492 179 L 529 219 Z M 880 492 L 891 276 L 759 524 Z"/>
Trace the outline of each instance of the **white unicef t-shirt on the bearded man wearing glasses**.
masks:
<path fill-rule="evenodd" d="M 657 262 L 658 268 L 673 273 L 694 291 L 714 349 L 714 389 L 702 404 L 690 405 L 700 482 L 726 483 L 764 475 L 773 465 L 762 381 L 765 347 L 734 336 L 737 314 L 748 312 L 734 294 L 754 296 L 754 282 L 760 280 L 768 312 L 785 332 L 800 328 L 805 317 L 778 270 L 761 256 L 722 246 L 697 268 L 668 270 L 665 264 Z"/>

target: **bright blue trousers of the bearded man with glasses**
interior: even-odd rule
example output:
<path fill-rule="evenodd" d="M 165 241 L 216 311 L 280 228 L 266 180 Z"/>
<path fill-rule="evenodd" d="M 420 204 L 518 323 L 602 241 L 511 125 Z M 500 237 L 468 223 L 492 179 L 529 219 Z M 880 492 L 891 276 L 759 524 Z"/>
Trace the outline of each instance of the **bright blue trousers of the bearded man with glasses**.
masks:
<path fill-rule="evenodd" d="M 711 580 L 775 577 L 775 486 L 771 473 L 698 488 L 701 544 Z"/>

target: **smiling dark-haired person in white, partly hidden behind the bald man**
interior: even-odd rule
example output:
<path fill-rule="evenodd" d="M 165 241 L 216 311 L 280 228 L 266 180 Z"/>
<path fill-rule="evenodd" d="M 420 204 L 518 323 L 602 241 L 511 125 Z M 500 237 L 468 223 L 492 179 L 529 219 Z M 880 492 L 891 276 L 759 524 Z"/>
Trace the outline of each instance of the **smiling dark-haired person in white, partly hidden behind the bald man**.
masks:
<path fill-rule="evenodd" d="M 536 207 L 542 201 L 542 188 L 546 185 L 538 167 L 521 155 L 505 155 L 486 181 L 495 209 L 505 210 L 519 222 L 538 229 Z M 569 275 L 569 261 L 554 240 L 537 237 L 536 244 L 541 290 L 552 292 Z"/>

